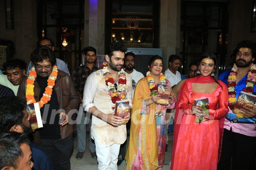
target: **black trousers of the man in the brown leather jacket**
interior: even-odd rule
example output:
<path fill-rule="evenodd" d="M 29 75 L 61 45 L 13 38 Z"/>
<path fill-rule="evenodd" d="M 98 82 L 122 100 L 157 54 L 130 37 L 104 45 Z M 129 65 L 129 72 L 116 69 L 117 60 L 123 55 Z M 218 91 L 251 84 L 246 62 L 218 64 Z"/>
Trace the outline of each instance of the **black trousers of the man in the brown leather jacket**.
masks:
<path fill-rule="evenodd" d="M 70 170 L 73 134 L 65 139 L 40 139 L 40 145 L 49 155 L 54 170 Z"/>

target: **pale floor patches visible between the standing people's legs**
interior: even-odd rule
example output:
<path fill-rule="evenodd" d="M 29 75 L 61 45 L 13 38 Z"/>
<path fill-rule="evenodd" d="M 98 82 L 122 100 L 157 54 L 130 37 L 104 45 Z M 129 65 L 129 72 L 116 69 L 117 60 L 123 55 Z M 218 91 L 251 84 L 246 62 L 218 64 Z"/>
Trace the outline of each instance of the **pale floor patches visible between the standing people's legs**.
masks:
<path fill-rule="evenodd" d="M 172 149 L 172 133 L 168 134 L 169 136 L 169 145 L 168 145 L 168 152 L 165 153 L 165 161 L 164 166 L 162 170 L 170 170 L 169 162 L 171 161 L 171 149 Z M 86 143 L 89 143 L 89 133 L 87 133 Z M 71 156 L 71 170 L 97 170 L 97 159 L 92 159 L 91 154 L 89 152 L 89 145 L 86 144 L 86 150 L 84 152 L 84 156 L 81 160 L 78 160 L 75 158 L 77 150 L 77 137 L 76 137 L 76 131 L 74 133 L 74 150 L 73 154 Z M 118 167 L 118 170 L 125 170 L 126 169 L 126 163 L 123 161 L 120 167 Z"/>

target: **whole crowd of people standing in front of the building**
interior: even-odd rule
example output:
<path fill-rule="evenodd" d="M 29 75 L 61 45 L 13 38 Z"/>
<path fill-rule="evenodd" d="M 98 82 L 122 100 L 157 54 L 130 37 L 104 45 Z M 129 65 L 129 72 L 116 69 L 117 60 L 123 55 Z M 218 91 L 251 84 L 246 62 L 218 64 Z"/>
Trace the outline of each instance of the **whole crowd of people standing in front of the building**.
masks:
<path fill-rule="evenodd" d="M 97 51 L 88 46 L 84 65 L 70 76 L 55 57 L 53 40 L 43 38 L 28 68 L 21 59 L 6 61 L 0 74 L 0 170 L 70 170 L 74 127 L 76 159 L 82 159 L 86 125 L 99 170 L 117 170 L 124 161 L 127 170 L 162 169 L 172 119 L 171 170 L 256 169 L 256 106 L 233 113 L 240 92 L 256 95 L 254 42 L 240 42 L 235 64 L 220 74 L 217 57 L 203 53 L 186 77 L 178 71 L 178 55 L 169 56 L 166 70 L 162 57 L 152 56 L 144 77 L 135 70 L 135 54 L 126 52 L 123 43 L 111 43 L 98 68 Z M 120 117 L 115 110 L 122 100 L 129 113 Z M 35 103 L 43 127 L 32 130 L 27 105 Z"/>

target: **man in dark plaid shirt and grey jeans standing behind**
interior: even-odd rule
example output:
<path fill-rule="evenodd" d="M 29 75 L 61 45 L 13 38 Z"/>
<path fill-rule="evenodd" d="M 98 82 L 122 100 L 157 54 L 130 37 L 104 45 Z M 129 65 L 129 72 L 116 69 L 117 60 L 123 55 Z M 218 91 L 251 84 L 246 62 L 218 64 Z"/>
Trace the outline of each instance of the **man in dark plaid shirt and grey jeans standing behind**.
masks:
<path fill-rule="evenodd" d="M 83 93 L 84 93 L 84 86 L 87 77 L 94 71 L 97 71 L 99 68 L 94 65 L 96 60 L 97 51 L 92 46 L 88 46 L 84 49 L 84 59 L 85 64 L 79 66 L 75 69 L 73 73 L 73 82 L 75 85 L 75 89 L 80 96 L 80 103 L 82 103 Z M 91 129 L 91 114 L 88 113 L 87 117 L 86 112 L 84 112 L 84 107 L 80 105 L 78 111 L 78 117 L 76 119 L 76 129 L 77 129 L 77 137 L 78 137 L 78 153 L 76 154 L 76 159 L 82 159 L 86 148 L 86 124 L 89 118 L 89 128 Z M 95 144 L 92 139 L 89 139 L 90 147 L 89 150 L 91 152 L 91 157 L 96 158 L 96 150 Z"/>

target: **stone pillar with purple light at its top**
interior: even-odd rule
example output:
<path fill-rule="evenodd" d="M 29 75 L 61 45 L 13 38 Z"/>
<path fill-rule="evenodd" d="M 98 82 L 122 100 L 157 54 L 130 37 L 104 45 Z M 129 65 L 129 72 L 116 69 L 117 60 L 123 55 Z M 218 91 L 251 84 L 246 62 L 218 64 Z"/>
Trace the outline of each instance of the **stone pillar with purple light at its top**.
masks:
<path fill-rule="evenodd" d="M 84 47 L 105 54 L 105 0 L 85 0 Z"/>

